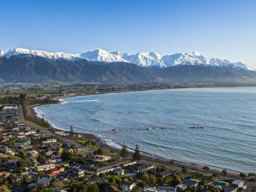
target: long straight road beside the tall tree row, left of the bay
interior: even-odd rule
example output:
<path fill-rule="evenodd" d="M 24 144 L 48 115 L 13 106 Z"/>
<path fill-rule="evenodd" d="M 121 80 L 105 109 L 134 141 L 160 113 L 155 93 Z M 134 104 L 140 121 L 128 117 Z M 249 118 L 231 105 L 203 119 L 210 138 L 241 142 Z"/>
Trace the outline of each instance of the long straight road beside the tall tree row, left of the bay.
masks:
<path fill-rule="evenodd" d="M 19 121 L 21 124 L 26 124 L 26 125 L 28 125 L 28 126 L 31 126 L 31 127 L 35 128 L 35 129 L 37 129 L 37 130 L 40 130 L 41 132 L 43 132 L 43 133 L 46 134 L 46 135 L 58 136 L 61 141 L 66 142 L 66 143 L 70 143 L 70 144 L 73 144 L 73 145 L 76 145 L 77 147 L 80 147 L 80 148 L 85 149 L 85 151 L 86 151 L 86 149 L 87 149 L 87 147 L 86 147 L 85 145 L 81 144 L 81 143 L 78 143 L 78 142 L 76 142 L 76 141 L 72 141 L 72 140 L 70 140 L 70 139 L 68 139 L 68 138 L 66 138 L 66 137 L 62 137 L 62 136 L 60 136 L 60 135 L 58 135 L 58 134 L 56 134 L 56 133 L 54 133 L 54 132 L 45 130 L 45 129 L 43 129 L 42 127 L 38 127 L 38 126 L 35 126 L 34 124 L 28 123 L 28 122 L 25 120 L 24 116 L 23 116 L 23 109 L 22 109 L 22 106 L 19 106 L 19 107 L 18 107 L 18 121 Z M 95 151 L 95 149 L 88 147 L 88 152 L 93 152 L 93 151 Z"/>

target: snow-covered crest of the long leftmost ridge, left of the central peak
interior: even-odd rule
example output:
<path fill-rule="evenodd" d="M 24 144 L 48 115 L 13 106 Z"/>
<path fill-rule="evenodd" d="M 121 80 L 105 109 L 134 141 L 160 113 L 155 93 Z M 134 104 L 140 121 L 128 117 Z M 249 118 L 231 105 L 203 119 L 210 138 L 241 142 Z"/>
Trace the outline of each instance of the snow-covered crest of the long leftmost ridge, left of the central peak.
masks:
<path fill-rule="evenodd" d="M 30 50 L 30 49 L 9 49 L 9 50 L 0 50 L 0 57 L 10 58 L 11 56 L 18 56 L 18 57 L 26 57 L 28 54 L 37 55 L 40 57 L 45 57 L 48 59 L 65 59 L 65 60 L 76 60 L 80 54 L 69 54 L 64 52 L 56 52 L 51 53 L 47 51 L 37 51 L 37 50 Z M 87 59 L 88 60 L 88 59 Z"/>

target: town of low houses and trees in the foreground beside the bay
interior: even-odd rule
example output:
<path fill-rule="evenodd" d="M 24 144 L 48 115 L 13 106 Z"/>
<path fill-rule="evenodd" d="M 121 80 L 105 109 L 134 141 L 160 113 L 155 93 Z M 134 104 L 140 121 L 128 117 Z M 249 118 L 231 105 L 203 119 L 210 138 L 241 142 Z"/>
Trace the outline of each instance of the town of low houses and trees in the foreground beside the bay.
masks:
<path fill-rule="evenodd" d="M 139 147 L 132 156 L 126 144 L 121 151 L 106 151 L 83 134 L 50 130 L 27 122 L 21 105 L 4 105 L 0 111 L 0 182 L 12 192 L 238 192 L 254 188 L 255 173 L 225 177 L 227 172 L 191 172 L 143 160 Z M 246 179 L 247 182 L 244 182 Z"/>

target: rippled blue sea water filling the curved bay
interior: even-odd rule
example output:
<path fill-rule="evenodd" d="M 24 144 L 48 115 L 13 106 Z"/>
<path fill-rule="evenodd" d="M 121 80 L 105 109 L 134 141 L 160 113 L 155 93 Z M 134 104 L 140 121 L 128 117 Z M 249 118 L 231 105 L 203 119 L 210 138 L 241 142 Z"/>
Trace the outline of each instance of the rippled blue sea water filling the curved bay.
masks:
<path fill-rule="evenodd" d="M 35 108 L 54 127 L 119 148 L 228 172 L 256 169 L 256 87 L 173 89 L 62 99 Z M 203 127 L 203 128 L 191 128 Z"/>

